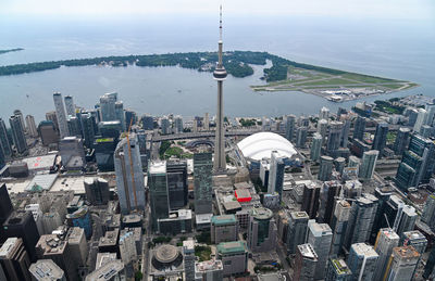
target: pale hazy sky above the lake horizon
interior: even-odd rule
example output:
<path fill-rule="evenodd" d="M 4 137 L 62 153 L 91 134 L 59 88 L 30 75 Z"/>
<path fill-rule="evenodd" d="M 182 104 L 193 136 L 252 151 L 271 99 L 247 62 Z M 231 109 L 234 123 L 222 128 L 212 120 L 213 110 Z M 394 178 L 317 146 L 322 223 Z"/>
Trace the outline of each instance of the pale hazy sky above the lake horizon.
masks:
<path fill-rule="evenodd" d="M 3 16 L 215 14 L 313 15 L 435 21 L 434 0 L 0 0 Z"/>

